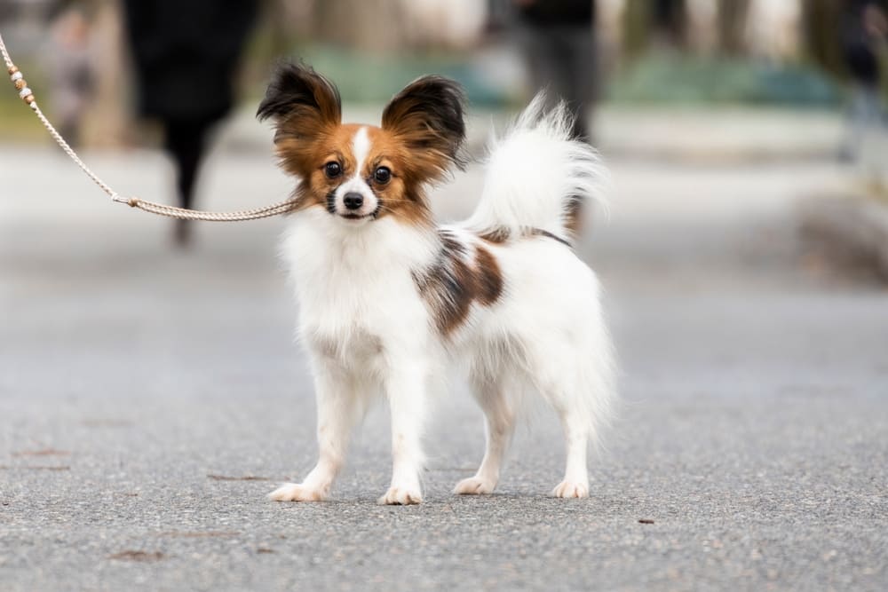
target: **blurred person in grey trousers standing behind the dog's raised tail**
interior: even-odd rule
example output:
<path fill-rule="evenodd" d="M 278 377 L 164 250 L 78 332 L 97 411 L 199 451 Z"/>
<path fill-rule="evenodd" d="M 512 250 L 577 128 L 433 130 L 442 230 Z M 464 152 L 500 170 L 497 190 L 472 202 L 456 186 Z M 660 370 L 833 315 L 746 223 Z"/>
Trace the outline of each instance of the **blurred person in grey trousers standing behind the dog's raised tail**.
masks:
<path fill-rule="evenodd" d="M 567 102 L 574 136 L 591 142 L 590 111 L 596 96 L 594 0 L 512 0 L 519 43 L 535 89 L 551 103 Z M 551 105 L 550 105 L 551 107 Z"/>

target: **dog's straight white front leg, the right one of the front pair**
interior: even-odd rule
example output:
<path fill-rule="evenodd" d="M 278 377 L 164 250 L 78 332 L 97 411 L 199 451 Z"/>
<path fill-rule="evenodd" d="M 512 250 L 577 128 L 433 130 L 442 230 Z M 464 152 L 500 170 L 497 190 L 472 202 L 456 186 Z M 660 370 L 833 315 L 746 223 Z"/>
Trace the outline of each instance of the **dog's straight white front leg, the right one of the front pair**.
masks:
<path fill-rule="evenodd" d="M 406 505 L 423 501 L 419 471 L 424 461 L 420 440 L 426 388 L 425 369 L 416 362 L 392 368 L 385 380 L 392 412 L 392 485 L 379 503 Z"/>

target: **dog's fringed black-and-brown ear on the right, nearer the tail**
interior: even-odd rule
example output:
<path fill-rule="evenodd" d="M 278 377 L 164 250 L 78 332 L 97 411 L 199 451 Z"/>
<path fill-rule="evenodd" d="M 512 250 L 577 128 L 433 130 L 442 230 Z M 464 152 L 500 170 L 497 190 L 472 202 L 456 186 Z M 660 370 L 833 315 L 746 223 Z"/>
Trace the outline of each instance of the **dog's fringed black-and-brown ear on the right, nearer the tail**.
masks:
<path fill-rule="evenodd" d="M 443 76 L 423 76 L 409 83 L 383 111 L 383 129 L 411 150 L 410 161 L 424 181 L 464 169 L 465 92 Z"/>

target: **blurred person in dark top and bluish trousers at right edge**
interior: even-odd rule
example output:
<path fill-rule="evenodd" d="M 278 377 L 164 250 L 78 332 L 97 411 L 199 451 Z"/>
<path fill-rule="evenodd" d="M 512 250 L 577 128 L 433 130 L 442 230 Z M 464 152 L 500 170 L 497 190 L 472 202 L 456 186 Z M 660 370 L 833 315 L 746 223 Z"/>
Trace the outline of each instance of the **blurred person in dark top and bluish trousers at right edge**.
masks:
<path fill-rule="evenodd" d="M 857 161 L 868 140 L 884 132 L 884 107 L 880 83 L 888 37 L 888 18 L 875 0 L 847 0 L 841 28 L 842 54 L 851 75 L 852 91 L 847 107 L 847 131 L 840 156 Z"/>

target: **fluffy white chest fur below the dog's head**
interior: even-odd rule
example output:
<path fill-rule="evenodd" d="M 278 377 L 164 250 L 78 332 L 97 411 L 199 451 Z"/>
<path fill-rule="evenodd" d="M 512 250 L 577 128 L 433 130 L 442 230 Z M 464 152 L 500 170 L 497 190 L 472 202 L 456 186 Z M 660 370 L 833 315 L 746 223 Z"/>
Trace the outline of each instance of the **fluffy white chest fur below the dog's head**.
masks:
<path fill-rule="evenodd" d="M 293 218 L 282 254 L 296 282 L 305 345 L 350 366 L 427 346 L 429 315 L 412 270 L 436 256 L 428 233 L 385 219 L 349 228 L 327 212 Z"/>

